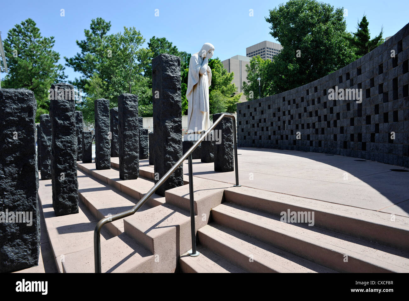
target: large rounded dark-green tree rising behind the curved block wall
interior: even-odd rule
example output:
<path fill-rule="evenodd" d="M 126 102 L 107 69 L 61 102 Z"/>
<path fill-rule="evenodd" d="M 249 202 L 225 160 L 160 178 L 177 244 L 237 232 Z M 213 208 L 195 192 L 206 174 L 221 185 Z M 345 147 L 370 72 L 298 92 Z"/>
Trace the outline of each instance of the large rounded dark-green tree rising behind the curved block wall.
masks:
<path fill-rule="evenodd" d="M 272 79 L 267 95 L 307 84 L 354 59 L 342 8 L 316 0 L 290 0 L 270 10 L 266 21 L 271 24 L 270 34 L 283 46 L 268 70 Z"/>

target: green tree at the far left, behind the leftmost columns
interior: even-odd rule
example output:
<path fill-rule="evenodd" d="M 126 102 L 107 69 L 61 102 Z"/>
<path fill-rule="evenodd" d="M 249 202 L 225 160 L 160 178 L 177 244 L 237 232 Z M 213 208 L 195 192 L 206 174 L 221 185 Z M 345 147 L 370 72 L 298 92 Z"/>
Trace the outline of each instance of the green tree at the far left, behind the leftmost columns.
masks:
<path fill-rule="evenodd" d="M 27 88 L 37 101 L 36 121 L 49 112 L 48 89 L 53 83 L 64 81 L 64 66 L 58 64 L 60 54 L 52 50 L 54 37 L 42 37 L 32 19 L 9 30 L 3 41 L 9 73 L 2 88 Z"/>

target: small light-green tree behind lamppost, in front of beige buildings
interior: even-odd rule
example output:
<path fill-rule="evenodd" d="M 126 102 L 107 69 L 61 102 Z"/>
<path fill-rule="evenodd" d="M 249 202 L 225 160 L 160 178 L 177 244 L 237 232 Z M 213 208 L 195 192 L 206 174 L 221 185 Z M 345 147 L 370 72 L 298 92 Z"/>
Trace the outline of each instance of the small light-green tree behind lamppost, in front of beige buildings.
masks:
<path fill-rule="evenodd" d="M 258 81 L 260 77 L 261 97 L 269 95 L 271 91 L 271 75 L 270 70 L 271 61 L 269 59 L 263 60 L 259 55 L 252 57 L 250 63 L 246 65 L 247 81 L 243 81 L 243 91 L 247 100 L 258 99 Z"/>

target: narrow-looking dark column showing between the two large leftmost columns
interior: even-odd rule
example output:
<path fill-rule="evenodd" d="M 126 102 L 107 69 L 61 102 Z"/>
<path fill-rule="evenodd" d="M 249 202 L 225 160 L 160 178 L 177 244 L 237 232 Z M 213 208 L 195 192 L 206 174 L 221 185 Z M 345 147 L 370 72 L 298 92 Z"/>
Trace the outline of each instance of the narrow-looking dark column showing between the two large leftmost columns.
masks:
<path fill-rule="evenodd" d="M 41 153 L 41 180 L 51 179 L 51 143 L 52 143 L 52 131 L 50 115 L 40 115 L 40 148 Z"/>

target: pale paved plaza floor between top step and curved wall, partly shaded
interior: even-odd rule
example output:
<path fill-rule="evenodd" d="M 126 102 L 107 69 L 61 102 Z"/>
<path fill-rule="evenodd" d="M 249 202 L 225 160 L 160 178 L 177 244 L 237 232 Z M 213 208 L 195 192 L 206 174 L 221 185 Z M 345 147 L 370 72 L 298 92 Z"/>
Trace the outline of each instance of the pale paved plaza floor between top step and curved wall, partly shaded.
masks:
<path fill-rule="evenodd" d="M 239 148 L 240 184 L 320 201 L 409 217 L 409 172 L 403 167 L 346 156 Z M 188 165 L 183 165 L 188 174 Z M 234 172 L 214 172 L 193 160 L 195 177 L 235 183 Z"/>

